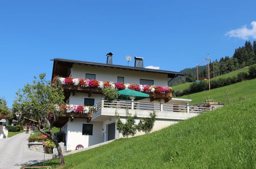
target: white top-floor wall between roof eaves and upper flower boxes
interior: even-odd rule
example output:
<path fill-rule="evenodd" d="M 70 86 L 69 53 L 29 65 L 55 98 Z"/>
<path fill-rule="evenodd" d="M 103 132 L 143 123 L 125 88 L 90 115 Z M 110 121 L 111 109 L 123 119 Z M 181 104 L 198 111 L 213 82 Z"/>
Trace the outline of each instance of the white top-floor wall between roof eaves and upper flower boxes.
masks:
<path fill-rule="evenodd" d="M 125 83 L 139 84 L 140 79 L 154 80 L 156 86 L 167 86 L 168 78 L 167 74 L 162 73 L 150 73 L 133 70 L 123 70 L 96 66 L 86 66 L 74 64 L 71 70 L 71 77 L 85 78 L 85 74 L 96 74 L 97 80 L 102 81 L 117 81 L 117 76 L 124 77 Z"/>

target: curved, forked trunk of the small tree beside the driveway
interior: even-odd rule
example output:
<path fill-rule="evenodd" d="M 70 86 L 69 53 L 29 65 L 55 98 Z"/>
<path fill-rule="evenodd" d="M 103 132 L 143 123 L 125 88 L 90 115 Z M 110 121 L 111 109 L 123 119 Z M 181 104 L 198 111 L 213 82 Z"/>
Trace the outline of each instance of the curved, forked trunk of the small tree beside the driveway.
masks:
<path fill-rule="evenodd" d="M 48 120 L 46 120 L 46 121 L 47 121 L 47 124 L 48 124 L 48 126 L 49 126 L 49 132 L 50 132 L 50 134 L 48 134 L 48 133 L 44 132 L 42 129 L 40 129 L 41 122 L 39 122 L 39 124 L 38 124 L 38 130 L 39 130 L 41 133 L 43 133 L 44 135 L 46 135 L 48 138 L 50 138 L 50 139 L 55 143 L 55 145 L 56 145 L 56 147 L 57 147 L 57 151 L 58 151 L 58 164 L 61 165 L 61 166 L 62 166 L 62 165 L 65 165 L 64 157 L 63 157 L 63 152 L 62 152 L 61 146 L 60 146 L 60 144 L 58 144 L 57 139 L 54 137 L 54 133 L 52 132 L 52 126 L 51 126 L 50 122 L 49 122 Z"/>

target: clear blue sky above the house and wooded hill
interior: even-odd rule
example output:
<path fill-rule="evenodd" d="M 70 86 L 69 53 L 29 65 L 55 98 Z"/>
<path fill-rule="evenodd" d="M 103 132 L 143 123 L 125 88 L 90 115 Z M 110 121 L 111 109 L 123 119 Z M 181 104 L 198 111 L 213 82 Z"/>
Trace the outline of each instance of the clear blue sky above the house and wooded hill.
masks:
<path fill-rule="evenodd" d="M 131 55 L 144 57 L 144 66 L 180 71 L 207 53 L 211 59 L 232 56 L 256 37 L 255 6 L 256 1 L 0 1 L 0 97 L 11 107 L 15 92 L 34 75 L 50 79 L 54 57 L 106 62 L 112 52 L 113 64 L 127 65 L 125 56 Z"/>

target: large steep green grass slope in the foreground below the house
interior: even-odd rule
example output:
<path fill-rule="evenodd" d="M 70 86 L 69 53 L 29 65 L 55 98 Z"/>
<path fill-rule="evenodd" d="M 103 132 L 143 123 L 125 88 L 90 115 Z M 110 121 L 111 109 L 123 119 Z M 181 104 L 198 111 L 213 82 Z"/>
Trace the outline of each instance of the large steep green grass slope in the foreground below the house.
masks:
<path fill-rule="evenodd" d="M 256 99 L 65 156 L 63 168 L 253 168 Z M 36 164 L 42 165 L 42 164 Z M 45 165 L 58 167 L 58 160 Z"/>

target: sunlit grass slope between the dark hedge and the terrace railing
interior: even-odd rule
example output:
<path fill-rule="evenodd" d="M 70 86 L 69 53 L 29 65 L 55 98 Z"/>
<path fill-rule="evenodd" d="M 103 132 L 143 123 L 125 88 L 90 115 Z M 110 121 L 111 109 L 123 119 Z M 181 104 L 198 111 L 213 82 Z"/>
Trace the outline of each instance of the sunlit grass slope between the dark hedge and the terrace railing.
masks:
<path fill-rule="evenodd" d="M 193 93 L 181 96 L 180 98 L 192 99 L 191 104 L 205 102 L 206 98 L 213 98 L 216 102 L 227 104 L 227 96 L 225 92 L 229 93 L 229 97 L 233 102 L 238 102 L 239 96 L 246 96 L 246 98 L 256 97 L 256 79 L 245 80 L 233 85 L 224 86 L 212 90 Z"/>

